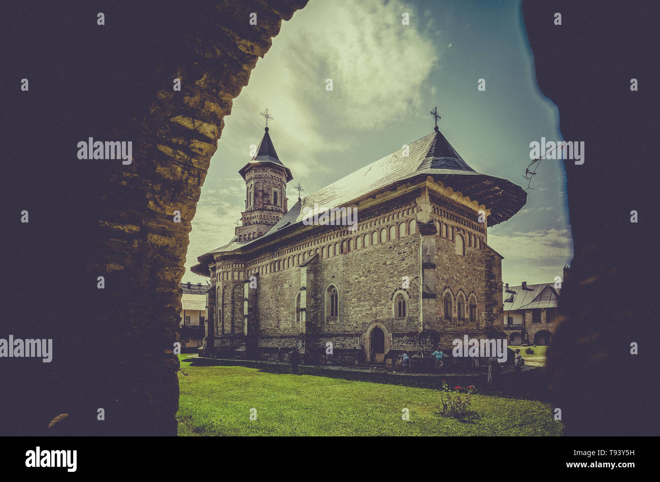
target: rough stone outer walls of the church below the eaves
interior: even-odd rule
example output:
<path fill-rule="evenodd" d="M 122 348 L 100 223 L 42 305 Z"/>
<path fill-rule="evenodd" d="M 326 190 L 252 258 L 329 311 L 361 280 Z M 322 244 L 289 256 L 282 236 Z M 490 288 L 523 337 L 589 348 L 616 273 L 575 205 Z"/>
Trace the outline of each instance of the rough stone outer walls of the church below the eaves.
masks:
<path fill-rule="evenodd" d="M 389 207 L 360 211 L 355 231 L 344 226 L 319 227 L 244 259 L 220 257 L 216 279 L 221 280 L 218 283 L 230 294 L 234 293 L 234 286 L 242 286 L 244 279 L 254 273 L 257 276 L 255 316 L 250 321 L 250 333 L 256 335 L 251 356 L 281 360 L 283 352 L 304 346 L 316 358 L 325 352 L 326 342 L 331 342 L 333 362 L 343 360 L 342 357 L 350 364 L 364 362 L 370 346 L 368 331 L 376 322 L 385 333 L 385 351 L 391 348 L 397 354 L 428 352 L 438 344 L 444 350 L 451 350 L 451 342 L 465 334 L 485 338 L 486 328 L 502 316 L 501 257 L 486 245 L 485 226 L 475 221 L 477 211 L 454 206 L 450 201 L 430 208 L 431 219 L 438 226 L 434 236 L 436 317 L 430 323 L 436 330 L 424 331 L 420 336 L 422 265 L 416 196 L 406 194 L 393 200 Z M 465 240 L 465 255 L 455 252 L 458 234 Z M 403 277 L 407 277 L 407 286 Z M 339 293 L 336 318 L 329 318 L 326 313 L 327 290 L 331 285 Z M 446 291 L 452 298 L 450 322 L 444 320 L 442 312 L 442 296 Z M 395 318 L 393 312 L 393 300 L 399 292 L 407 297 L 407 316 L 403 319 Z M 459 293 L 465 299 L 465 321 L 461 322 L 457 320 Z M 298 294 L 301 294 L 301 307 L 306 309 L 306 323 L 296 321 Z M 477 300 L 476 322 L 469 321 L 469 302 L 473 296 Z M 225 325 L 232 320 L 234 331 L 228 335 L 225 327 L 225 339 L 216 342 L 216 346 L 218 355 L 232 356 L 235 354 L 231 350 L 249 344 L 242 335 L 242 291 L 229 300 L 218 297 L 218 303 L 222 300 L 222 319 Z M 307 361 L 312 361 L 311 355 L 308 357 Z"/>

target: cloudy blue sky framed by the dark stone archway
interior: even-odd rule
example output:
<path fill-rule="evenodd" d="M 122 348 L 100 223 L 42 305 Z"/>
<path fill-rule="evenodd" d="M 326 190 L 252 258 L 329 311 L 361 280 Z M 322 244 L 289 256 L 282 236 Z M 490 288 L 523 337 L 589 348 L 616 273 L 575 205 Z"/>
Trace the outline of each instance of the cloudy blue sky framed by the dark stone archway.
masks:
<path fill-rule="evenodd" d="M 205 284 L 190 267 L 234 236 L 246 197 L 238 170 L 263 136 L 264 109 L 294 176 L 291 207 L 298 182 L 312 194 L 430 134 L 436 106 L 440 131 L 468 165 L 527 188 L 529 144 L 562 136 L 558 109 L 537 86 L 519 1 L 311 0 L 282 22 L 224 118 L 183 281 Z M 488 228 L 488 244 L 504 256 L 502 281 L 512 286 L 562 276 L 573 244 L 561 161 L 541 161 L 527 204 Z"/>

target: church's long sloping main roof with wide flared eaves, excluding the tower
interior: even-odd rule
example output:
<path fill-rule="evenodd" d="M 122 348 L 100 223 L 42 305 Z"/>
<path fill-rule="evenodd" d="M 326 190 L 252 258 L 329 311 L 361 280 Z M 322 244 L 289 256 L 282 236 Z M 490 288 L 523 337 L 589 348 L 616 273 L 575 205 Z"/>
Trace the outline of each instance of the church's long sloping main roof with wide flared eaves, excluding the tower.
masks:
<path fill-rule="evenodd" d="M 463 196 L 485 205 L 490 209 L 489 226 L 510 219 L 527 201 L 527 193 L 517 184 L 477 173 L 469 167 L 439 130 L 410 144 L 407 154 L 404 149 L 399 149 L 317 190 L 302 201 L 305 206 L 314 207 L 314 203 L 319 203 L 319 207 L 327 209 L 347 206 L 358 198 L 416 176 L 432 176 L 455 192 L 461 192 Z M 258 246 L 263 240 L 271 240 L 271 236 L 279 230 L 302 223 L 302 207 L 301 201 L 298 201 L 275 226 L 259 238 L 238 241 L 234 236 L 228 244 L 197 257 L 199 264 L 192 267 L 193 273 L 208 276 L 205 263 L 213 259 L 211 255 L 214 253 L 233 251 L 248 244 Z"/>

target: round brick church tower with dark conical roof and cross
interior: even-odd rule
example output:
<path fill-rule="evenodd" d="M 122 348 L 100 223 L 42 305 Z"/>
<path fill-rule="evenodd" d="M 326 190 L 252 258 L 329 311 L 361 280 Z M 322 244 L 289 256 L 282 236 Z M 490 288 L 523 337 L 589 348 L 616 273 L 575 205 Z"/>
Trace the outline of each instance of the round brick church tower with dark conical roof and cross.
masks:
<path fill-rule="evenodd" d="M 236 240 L 248 241 L 263 236 L 288 211 L 286 183 L 293 176 L 277 156 L 268 126 L 257 152 L 238 173 L 246 181 L 246 209 L 241 213 L 242 225 L 236 227 Z"/>

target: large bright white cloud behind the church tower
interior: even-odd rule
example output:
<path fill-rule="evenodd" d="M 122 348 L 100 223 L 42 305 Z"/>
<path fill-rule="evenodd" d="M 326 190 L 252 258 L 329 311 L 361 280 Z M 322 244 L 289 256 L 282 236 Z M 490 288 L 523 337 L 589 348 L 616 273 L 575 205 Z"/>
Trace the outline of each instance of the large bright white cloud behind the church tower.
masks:
<path fill-rule="evenodd" d="M 410 14 L 408 26 L 401 24 L 403 12 Z M 428 28 L 431 21 L 400 1 L 337 0 L 310 2 L 282 23 L 248 86 L 234 99 L 232 115 L 224 119 L 193 220 L 187 268 L 198 255 L 234 236 L 244 209 L 245 184 L 238 174 L 226 176 L 243 167 L 249 146 L 259 143 L 263 109 L 275 117 L 269 122 L 270 134 L 284 165 L 298 180 L 322 183 L 308 184 L 306 194 L 341 177 L 323 175 L 334 166 L 317 161 L 319 154 L 346 155 L 360 146 L 356 132 L 428 110 L 422 108 L 420 92 L 438 54 L 420 25 Z M 432 33 L 437 32 L 434 27 Z M 333 92 L 325 90 L 327 78 L 333 80 Z M 197 279 L 190 273 L 188 277 Z"/>

